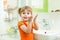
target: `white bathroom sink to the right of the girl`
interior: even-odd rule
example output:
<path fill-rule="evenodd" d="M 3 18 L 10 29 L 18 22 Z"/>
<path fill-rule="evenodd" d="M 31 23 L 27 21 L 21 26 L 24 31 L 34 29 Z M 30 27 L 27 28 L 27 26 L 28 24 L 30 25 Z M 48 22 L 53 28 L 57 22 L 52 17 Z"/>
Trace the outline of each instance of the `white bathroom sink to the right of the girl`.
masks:
<path fill-rule="evenodd" d="M 36 40 L 60 40 L 60 33 L 46 30 L 38 30 L 35 31 L 35 39 Z"/>

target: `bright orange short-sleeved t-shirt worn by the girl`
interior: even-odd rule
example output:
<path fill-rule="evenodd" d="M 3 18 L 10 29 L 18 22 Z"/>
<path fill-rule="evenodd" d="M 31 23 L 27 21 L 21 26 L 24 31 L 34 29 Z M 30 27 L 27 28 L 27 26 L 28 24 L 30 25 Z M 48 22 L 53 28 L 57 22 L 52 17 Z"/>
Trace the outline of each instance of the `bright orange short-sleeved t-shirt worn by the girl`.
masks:
<path fill-rule="evenodd" d="M 25 25 L 27 27 L 27 24 L 25 22 L 23 22 L 23 21 L 19 21 L 18 22 L 18 30 L 20 32 L 21 40 L 33 40 L 33 25 L 32 25 L 32 29 L 31 29 L 31 32 L 30 33 L 25 33 L 20 28 L 21 25 Z"/>

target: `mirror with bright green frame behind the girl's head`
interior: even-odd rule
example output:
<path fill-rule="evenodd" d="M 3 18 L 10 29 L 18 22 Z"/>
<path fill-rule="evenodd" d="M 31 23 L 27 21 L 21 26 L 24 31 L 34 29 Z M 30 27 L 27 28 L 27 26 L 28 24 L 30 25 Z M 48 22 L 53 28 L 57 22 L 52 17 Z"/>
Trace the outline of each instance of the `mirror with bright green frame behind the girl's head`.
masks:
<path fill-rule="evenodd" d="M 33 12 L 48 12 L 48 0 L 21 0 L 20 4 L 31 6 Z"/>

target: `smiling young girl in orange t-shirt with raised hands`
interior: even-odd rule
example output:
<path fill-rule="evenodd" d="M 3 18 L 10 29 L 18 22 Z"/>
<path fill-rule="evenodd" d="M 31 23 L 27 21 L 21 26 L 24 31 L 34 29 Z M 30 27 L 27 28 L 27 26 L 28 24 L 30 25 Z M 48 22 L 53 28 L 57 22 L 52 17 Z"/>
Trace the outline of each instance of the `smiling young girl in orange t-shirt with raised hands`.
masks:
<path fill-rule="evenodd" d="M 32 19 L 32 8 L 29 6 L 19 8 L 18 13 L 22 18 L 22 21 L 18 22 L 21 40 L 33 40 L 33 28 L 38 30 L 36 24 L 37 15 Z"/>

